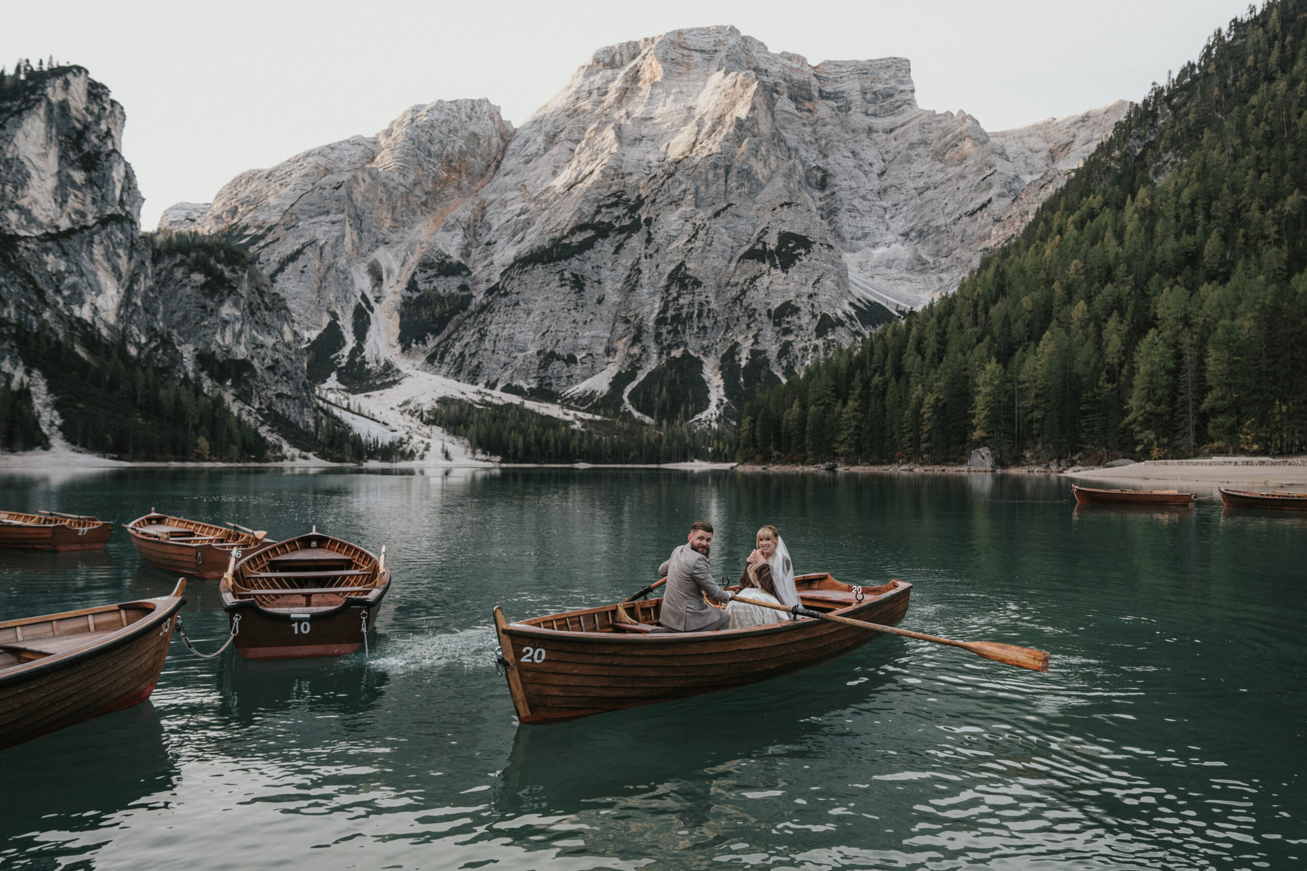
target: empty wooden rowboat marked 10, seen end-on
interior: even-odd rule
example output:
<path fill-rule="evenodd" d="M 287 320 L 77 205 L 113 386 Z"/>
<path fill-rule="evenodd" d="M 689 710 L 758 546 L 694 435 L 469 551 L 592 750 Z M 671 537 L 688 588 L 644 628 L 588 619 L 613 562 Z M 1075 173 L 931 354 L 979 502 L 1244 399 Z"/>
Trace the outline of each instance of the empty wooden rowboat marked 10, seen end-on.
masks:
<path fill-rule="evenodd" d="M 246 556 L 218 593 L 242 656 L 301 659 L 357 650 L 389 584 L 384 547 L 376 558 L 315 529 Z"/>

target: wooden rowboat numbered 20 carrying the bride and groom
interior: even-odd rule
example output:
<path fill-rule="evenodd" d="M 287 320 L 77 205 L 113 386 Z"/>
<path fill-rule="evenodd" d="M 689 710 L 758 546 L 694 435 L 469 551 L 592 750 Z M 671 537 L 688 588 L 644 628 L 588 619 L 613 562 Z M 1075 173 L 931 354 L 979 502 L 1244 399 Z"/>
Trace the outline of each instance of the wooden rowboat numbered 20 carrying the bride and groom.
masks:
<path fill-rule="evenodd" d="M 814 611 L 894 626 L 912 585 L 853 588 L 827 573 L 795 578 Z M 861 597 L 861 601 L 859 601 Z M 655 633 L 663 599 L 508 623 L 494 610 L 501 662 L 518 718 L 559 722 L 731 689 L 834 659 L 882 635 L 817 619 L 748 629 Z M 630 622 L 629 622 L 630 620 Z"/>

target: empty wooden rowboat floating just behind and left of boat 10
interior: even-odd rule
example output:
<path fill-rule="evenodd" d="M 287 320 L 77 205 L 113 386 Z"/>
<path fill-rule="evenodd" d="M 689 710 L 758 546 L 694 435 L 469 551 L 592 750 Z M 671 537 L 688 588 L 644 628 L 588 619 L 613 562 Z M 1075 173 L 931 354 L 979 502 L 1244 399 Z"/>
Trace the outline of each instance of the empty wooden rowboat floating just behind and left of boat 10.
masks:
<path fill-rule="evenodd" d="M 242 559 L 273 543 L 264 538 L 264 531 L 229 529 L 153 511 L 129 522 L 127 531 L 136 552 L 154 568 L 205 578 L 222 577 L 233 555 Z"/>

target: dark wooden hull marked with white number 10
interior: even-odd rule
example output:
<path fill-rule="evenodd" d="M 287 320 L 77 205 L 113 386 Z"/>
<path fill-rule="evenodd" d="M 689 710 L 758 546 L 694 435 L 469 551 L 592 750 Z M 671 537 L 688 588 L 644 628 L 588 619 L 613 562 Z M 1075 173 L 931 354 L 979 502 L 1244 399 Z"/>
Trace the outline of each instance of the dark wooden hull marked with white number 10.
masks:
<path fill-rule="evenodd" d="M 240 602 L 229 611 L 227 623 L 234 627 L 239 618 L 235 648 L 247 659 L 341 657 L 363 645 L 365 632 L 376 623 L 382 595 L 372 602 L 346 602 L 328 614 L 310 610 L 306 620 Z"/>

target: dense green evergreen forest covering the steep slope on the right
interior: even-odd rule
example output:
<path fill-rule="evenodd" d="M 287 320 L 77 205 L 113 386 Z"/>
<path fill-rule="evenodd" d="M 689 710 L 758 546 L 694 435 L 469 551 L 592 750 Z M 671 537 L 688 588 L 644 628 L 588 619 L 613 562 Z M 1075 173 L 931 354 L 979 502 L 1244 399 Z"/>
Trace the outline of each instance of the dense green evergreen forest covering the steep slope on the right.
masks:
<path fill-rule="evenodd" d="M 1273 1 L 1155 86 L 955 294 L 742 417 L 779 420 L 788 460 L 1302 451 L 1304 192 L 1307 0 Z"/>

